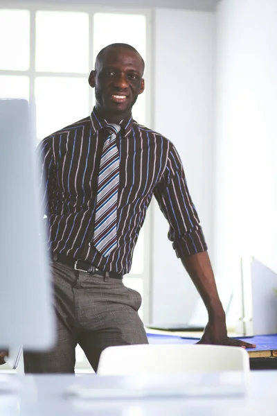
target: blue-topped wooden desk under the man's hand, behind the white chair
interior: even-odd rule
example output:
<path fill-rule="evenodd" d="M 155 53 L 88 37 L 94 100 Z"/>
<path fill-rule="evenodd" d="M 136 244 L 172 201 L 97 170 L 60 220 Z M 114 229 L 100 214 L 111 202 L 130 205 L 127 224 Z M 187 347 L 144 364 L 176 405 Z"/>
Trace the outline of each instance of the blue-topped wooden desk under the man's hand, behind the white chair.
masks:
<path fill-rule="evenodd" d="M 199 337 L 191 332 L 188 336 L 186 332 L 175 335 L 147 329 L 147 336 L 150 344 L 195 344 L 199 340 Z M 247 349 L 251 370 L 277 369 L 277 334 L 238 338 L 257 346 Z"/>

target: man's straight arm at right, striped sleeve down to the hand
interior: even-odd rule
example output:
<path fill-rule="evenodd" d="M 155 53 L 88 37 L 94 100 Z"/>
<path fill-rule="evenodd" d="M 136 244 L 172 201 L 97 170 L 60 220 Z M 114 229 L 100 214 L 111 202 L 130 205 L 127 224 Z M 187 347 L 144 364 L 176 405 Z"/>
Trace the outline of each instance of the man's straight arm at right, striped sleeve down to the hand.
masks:
<path fill-rule="evenodd" d="M 208 311 L 208 324 L 199 343 L 255 347 L 227 336 L 225 313 L 217 293 L 202 227 L 188 191 L 181 159 L 171 143 L 167 167 L 154 189 L 154 196 L 170 225 L 168 238 Z"/>

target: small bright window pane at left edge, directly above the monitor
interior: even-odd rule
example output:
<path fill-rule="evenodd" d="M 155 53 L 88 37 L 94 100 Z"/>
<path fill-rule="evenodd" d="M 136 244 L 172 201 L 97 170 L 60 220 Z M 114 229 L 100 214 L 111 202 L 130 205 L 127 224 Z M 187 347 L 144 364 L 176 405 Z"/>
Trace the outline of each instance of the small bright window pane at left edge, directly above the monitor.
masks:
<path fill-rule="evenodd" d="M 0 97 L 29 99 L 28 76 L 0 76 Z"/>

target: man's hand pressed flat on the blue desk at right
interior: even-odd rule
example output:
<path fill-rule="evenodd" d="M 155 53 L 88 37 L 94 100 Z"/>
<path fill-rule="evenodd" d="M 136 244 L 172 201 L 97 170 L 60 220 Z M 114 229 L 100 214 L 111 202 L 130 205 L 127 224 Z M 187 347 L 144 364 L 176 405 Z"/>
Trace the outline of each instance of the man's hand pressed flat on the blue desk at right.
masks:
<path fill-rule="evenodd" d="M 225 318 L 209 320 L 204 329 L 204 334 L 197 344 L 230 345 L 231 347 L 256 348 L 255 344 L 249 344 L 242 340 L 229 338 L 229 336 L 227 336 Z"/>

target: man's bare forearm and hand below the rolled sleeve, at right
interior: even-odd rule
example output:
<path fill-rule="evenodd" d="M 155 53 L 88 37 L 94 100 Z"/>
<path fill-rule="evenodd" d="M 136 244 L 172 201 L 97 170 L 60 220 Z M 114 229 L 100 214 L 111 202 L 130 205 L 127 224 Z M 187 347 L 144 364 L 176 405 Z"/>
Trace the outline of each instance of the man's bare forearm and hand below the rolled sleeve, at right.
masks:
<path fill-rule="evenodd" d="M 208 252 L 199 252 L 181 258 L 188 275 L 192 279 L 208 311 L 208 324 L 199 344 L 233 345 L 255 348 L 256 345 L 234 340 L 227 336 L 226 318 L 220 297 L 217 293 L 213 269 Z"/>

